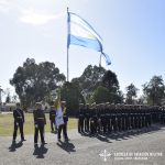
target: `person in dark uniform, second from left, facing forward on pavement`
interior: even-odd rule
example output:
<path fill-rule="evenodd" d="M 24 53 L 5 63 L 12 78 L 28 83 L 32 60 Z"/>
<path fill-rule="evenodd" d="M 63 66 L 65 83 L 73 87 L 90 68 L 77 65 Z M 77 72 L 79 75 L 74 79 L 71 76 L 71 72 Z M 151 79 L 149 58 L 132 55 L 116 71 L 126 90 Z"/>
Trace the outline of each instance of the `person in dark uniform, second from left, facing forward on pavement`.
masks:
<path fill-rule="evenodd" d="M 44 111 L 42 110 L 42 105 L 40 102 L 36 102 L 36 110 L 33 111 L 33 117 L 35 127 L 34 144 L 37 144 L 38 132 L 41 135 L 42 144 L 46 144 L 44 140 L 44 127 L 46 124 L 46 118 Z"/>

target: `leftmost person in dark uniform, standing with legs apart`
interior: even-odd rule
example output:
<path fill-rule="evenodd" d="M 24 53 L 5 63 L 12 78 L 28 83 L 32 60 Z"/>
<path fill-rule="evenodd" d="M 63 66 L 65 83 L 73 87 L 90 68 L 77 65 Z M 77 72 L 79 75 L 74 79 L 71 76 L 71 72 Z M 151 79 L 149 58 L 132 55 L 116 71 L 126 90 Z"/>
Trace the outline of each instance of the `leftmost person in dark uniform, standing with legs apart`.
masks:
<path fill-rule="evenodd" d="M 25 141 L 23 134 L 24 113 L 20 108 L 20 103 L 16 103 L 16 109 L 13 110 L 13 118 L 14 118 L 13 143 L 15 142 L 16 139 L 18 128 L 20 129 L 21 141 Z"/>

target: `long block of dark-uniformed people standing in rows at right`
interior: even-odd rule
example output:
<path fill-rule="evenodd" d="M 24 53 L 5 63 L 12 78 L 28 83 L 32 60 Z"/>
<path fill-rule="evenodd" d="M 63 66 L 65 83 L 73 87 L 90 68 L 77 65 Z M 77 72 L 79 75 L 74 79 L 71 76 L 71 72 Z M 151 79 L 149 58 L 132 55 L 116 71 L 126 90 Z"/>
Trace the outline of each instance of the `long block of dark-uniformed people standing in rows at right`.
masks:
<path fill-rule="evenodd" d="M 78 132 L 110 134 L 117 131 L 127 131 L 150 128 L 153 123 L 165 124 L 165 108 L 157 106 L 132 106 L 94 103 L 79 106 Z"/>

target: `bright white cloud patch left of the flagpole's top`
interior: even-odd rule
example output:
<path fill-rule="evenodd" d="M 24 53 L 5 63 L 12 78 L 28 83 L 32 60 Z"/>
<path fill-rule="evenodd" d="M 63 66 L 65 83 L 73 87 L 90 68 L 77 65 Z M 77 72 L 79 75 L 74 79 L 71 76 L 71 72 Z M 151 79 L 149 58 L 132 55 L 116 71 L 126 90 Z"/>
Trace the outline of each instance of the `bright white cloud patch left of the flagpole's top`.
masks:
<path fill-rule="evenodd" d="M 20 16 L 20 21 L 23 23 L 32 24 L 32 25 L 43 25 L 48 23 L 52 20 L 57 20 L 62 18 L 65 13 L 52 14 L 46 13 L 40 10 L 29 9 L 22 10 Z"/>

